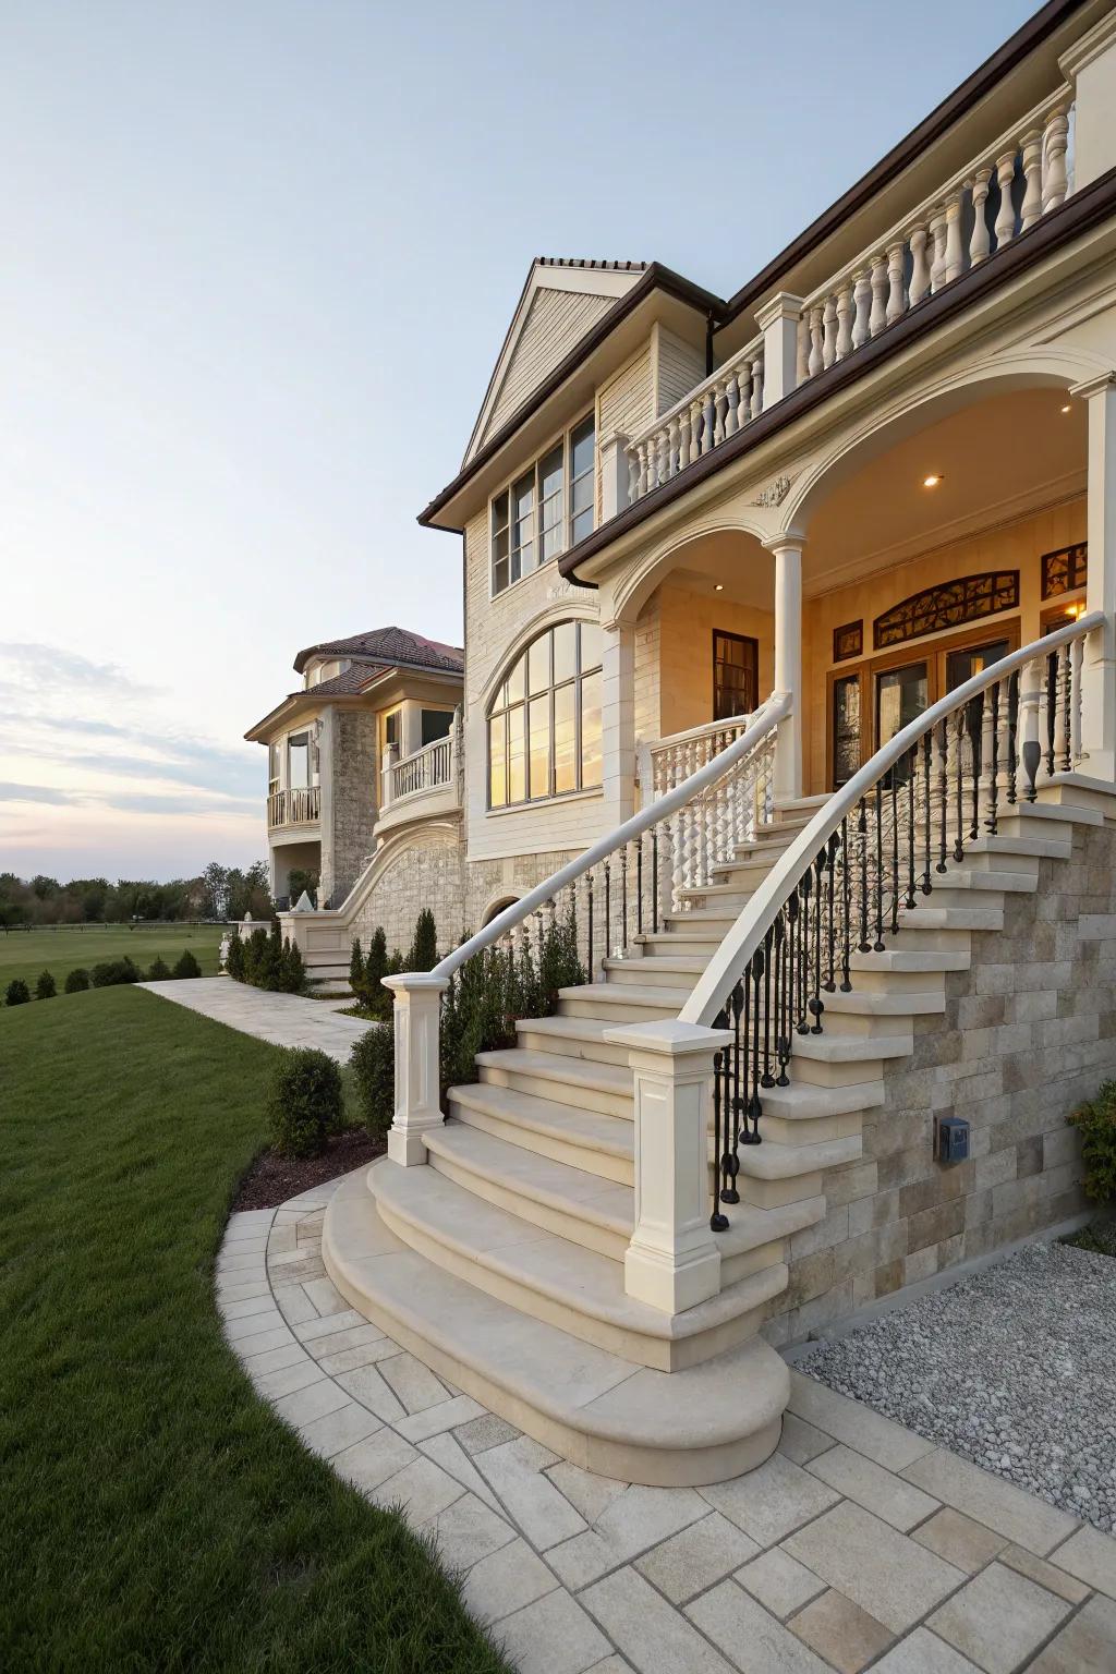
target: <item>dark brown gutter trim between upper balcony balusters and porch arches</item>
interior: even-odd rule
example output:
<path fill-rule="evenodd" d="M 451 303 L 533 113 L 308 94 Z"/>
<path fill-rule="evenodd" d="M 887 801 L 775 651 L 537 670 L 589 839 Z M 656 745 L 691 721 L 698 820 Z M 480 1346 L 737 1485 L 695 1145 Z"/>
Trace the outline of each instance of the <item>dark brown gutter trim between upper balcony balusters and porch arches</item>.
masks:
<path fill-rule="evenodd" d="M 559 573 L 567 581 L 577 581 L 577 566 L 602 551 L 617 536 L 627 534 L 629 529 L 637 527 L 664 506 L 681 499 L 698 482 L 716 475 L 718 470 L 731 465 L 733 460 L 751 454 L 763 442 L 768 442 L 780 430 L 793 424 L 795 418 L 801 418 L 803 413 L 820 407 L 830 395 L 837 395 L 838 390 L 855 383 L 867 372 L 872 372 L 873 367 L 878 367 L 880 362 L 898 353 L 898 350 L 909 348 L 920 338 L 929 336 L 945 320 L 980 301 L 980 298 L 997 290 L 1007 280 L 1026 273 L 1027 268 L 1051 256 L 1062 244 L 1069 244 L 1074 238 L 1088 233 L 1099 221 L 1111 216 L 1113 211 L 1116 211 L 1116 167 L 1098 176 L 1096 181 L 1083 187 L 1083 191 L 1074 193 L 1057 209 L 1051 209 L 1049 214 L 1044 214 L 1032 228 L 1021 233 L 1007 249 L 996 254 L 991 261 L 972 268 L 969 273 L 962 273 L 960 278 L 902 315 L 895 325 L 887 326 L 878 336 L 865 343 L 863 348 L 848 355 L 847 360 L 838 360 L 828 372 L 820 372 L 796 390 L 791 390 L 790 395 L 776 402 L 768 412 L 760 413 L 758 418 L 753 418 L 750 425 L 738 430 L 728 442 L 721 442 L 711 454 L 704 454 L 693 465 L 671 477 L 669 482 L 644 494 L 641 501 L 627 506 L 616 517 L 594 529 L 591 536 L 586 536 L 584 541 L 559 559 Z M 596 583 L 581 583 L 581 586 L 596 586 Z"/>

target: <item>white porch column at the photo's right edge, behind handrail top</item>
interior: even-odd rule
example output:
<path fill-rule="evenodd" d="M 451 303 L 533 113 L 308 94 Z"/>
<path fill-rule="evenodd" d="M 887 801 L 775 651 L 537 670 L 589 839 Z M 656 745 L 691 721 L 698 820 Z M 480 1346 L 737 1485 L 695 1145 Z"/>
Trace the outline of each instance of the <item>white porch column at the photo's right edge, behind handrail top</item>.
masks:
<path fill-rule="evenodd" d="M 1084 772 L 1116 780 L 1116 372 L 1078 383 L 1069 392 L 1089 403 L 1086 609 L 1104 611 L 1106 624 L 1089 634 L 1081 670 L 1081 747 Z"/>

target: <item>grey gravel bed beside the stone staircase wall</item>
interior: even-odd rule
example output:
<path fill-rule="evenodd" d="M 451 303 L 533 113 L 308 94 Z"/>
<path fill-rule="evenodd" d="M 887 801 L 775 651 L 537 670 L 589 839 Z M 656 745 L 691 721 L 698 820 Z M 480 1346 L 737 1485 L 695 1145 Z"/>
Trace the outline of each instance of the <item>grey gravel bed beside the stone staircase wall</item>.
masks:
<path fill-rule="evenodd" d="M 796 1361 L 798 1371 L 1116 1532 L 1116 1261 L 1017 1256 Z"/>

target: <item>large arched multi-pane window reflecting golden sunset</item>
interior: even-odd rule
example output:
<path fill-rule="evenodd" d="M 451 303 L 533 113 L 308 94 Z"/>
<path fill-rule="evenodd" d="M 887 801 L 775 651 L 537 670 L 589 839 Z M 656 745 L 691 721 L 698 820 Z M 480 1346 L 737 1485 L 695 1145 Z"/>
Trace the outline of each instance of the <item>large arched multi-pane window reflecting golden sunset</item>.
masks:
<path fill-rule="evenodd" d="M 489 710 L 489 807 L 601 783 L 601 628 L 557 623 L 532 639 Z"/>

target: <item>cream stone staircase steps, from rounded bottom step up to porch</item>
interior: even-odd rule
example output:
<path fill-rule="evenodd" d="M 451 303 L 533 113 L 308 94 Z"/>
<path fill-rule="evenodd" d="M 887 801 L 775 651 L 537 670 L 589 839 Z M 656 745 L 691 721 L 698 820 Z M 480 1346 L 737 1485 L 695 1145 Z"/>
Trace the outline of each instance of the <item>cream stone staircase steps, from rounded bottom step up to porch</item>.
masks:
<path fill-rule="evenodd" d="M 1067 860 L 1074 825 L 1103 824 L 1111 797 L 1051 775 L 1036 800 L 1012 800 L 992 832 L 967 837 L 883 951 L 848 954 L 848 991 L 825 993 L 823 1031 L 793 1033 L 786 1085 L 763 1090 L 761 1143 L 740 1148 L 719 1292 L 666 1312 L 626 1289 L 632 1070 L 609 1031 L 678 1018 L 827 802 L 776 805 L 627 956 L 562 989 L 555 1016 L 522 1019 L 514 1048 L 477 1056 L 477 1081 L 450 1088 L 447 1122 L 425 1133 L 428 1167 L 383 1160 L 346 1180 L 326 1215 L 326 1267 L 353 1306 L 602 1475 L 708 1483 L 771 1453 L 788 1374 L 758 1331 L 781 1311 L 788 1240 L 825 1215 L 827 1172 L 862 1155 L 888 1066 L 910 1056 L 919 1018 L 945 1011 L 974 936 L 1002 929 L 1007 897 L 1037 889 L 1042 860 Z M 716 1180 L 711 1133 L 711 1199 Z"/>

